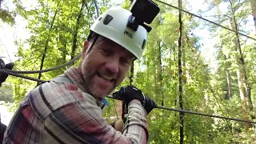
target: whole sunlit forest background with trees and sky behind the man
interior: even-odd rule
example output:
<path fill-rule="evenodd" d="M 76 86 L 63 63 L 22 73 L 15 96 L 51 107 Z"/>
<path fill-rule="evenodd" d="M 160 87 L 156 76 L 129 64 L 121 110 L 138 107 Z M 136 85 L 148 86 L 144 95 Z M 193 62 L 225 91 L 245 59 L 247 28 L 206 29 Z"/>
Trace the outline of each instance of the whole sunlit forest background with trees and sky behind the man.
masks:
<path fill-rule="evenodd" d="M 232 31 L 154 2 L 161 11 L 150 24 L 153 30 L 145 53 L 122 85 L 137 86 L 158 106 L 254 120 L 256 1 L 162 0 Z M 44 70 L 70 61 L 82 50 L 97 13 L 111 6 L 130 7 L 128 0 L 3 0 L 0 4 L 0 55 L 6 63 L 15 62 L 14 70 Z M 28 75 L 49 80 L 68 67 Z M 0 101 L 14 111 L 36 85 L 9 76 L 0 88 Z M 121 102 L 109 101 L 104 117 L 111 122 L 120 118 Z M 245 122 L 160 109 L 148 115 L 148 122 L 149 143 L 256 143 L 255 125 Z"/>

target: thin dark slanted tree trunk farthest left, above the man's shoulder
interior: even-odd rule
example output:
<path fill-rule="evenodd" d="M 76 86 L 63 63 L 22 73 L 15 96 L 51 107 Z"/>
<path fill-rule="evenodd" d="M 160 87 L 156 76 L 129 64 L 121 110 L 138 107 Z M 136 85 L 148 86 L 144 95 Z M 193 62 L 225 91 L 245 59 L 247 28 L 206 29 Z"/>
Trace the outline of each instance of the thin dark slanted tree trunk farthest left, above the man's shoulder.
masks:
<path fill-rule="evenodd" d="M 59 4 L 59 3 L 58 3 Z M 58 5 L 57 5 L 58 7 Z M 45 43 L 45 49 L 43 51 L 43 54 L 42 54 L 42 59 L 41 59 L 41 64 L 40 64 L 40 70 L 42 70 L 43 68 L 43 64 L 45 62 L 45 59 L 46 59 L 46 52 L 47 52 L 47 49 L 48 49 L 48 46 L 49 46 L 49 41 L 50 41 L 50 31 L 53 29 L 53 26 L 54 26 L 54 21 L 55 21 L 55 18 L 58 14 L 58 8 L 55 10 L 55 13 L 54 13 L 54 18 L 53 20 L 51 21 L 50 23 L 50 29 L 48 30 L 48 35 L 47 35 L 47 39 L 46 39 L 46 43 Z M 38 74 L 38 79 L 41 79 L 42 78 L 42 73 L 39 73 Z M 39 84 L 40 82 L 38 82 Z"/>

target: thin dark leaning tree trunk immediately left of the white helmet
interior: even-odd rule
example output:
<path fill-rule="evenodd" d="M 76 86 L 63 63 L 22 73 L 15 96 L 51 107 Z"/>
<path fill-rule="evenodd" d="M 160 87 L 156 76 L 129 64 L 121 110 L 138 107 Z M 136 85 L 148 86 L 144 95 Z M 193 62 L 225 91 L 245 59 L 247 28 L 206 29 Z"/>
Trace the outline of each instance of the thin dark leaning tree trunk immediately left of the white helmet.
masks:
<path fill-rule="evenodd" d="M 80 19 L 82 18 L 82 10 L 84 9 L 84 7 L 86 6 L 86 0 L 82 0 L 82 5 L 80 7 L 80 11 L 79 11 L 79 14 L 78 14 L 78 18 L 77 18 L 77 23 L 76 23 L 76 26 L 75 26 L 75 29 L 74 29 L 74 34 L 73 34 L 73 46 L 72 46 L 72 51 L 71 51 L 71 59 L 74 58 L 74 53 L 75 53 L 75 50 L 77 49 L 77 42 L 78 42 L 78 29 L 79 29 L 79 26 L 80 26 Z M 73 65 L 74 65 L 74 62 L 73 62 Z"/>

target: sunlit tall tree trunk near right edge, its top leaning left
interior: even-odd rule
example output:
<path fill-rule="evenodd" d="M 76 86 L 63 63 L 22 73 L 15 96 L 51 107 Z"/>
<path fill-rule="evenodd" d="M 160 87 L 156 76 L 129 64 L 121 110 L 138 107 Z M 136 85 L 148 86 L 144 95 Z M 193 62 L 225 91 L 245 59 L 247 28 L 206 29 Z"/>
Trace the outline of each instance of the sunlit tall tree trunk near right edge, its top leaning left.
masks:
<path fill-rule="evenodd" d="M 245 112 L 245 119 L 249 120 L 249 110 L 253 110 L 252 101 L 250 98 L 250 86 L 247 81 L 246 75 L 246 62 L 244 60 L 244 55 L 242 54 L 241 42 L 238 35 L 238 24 L 235 17 L 235 12 L 233 8 L 232 2 L 230 2 L 231 11 L 233 14 L 233 18 L 231 19 L 232 29 L 237 33 L 235 34 L 235 40 L 233 41 L 236 46 L 236 51 L 238 51 L 238 86 L 239 86 L 239 94 L 242 101 L 242 110 Z M 252 124 L 246 122 L 246 130 L 252 127 Z"/>

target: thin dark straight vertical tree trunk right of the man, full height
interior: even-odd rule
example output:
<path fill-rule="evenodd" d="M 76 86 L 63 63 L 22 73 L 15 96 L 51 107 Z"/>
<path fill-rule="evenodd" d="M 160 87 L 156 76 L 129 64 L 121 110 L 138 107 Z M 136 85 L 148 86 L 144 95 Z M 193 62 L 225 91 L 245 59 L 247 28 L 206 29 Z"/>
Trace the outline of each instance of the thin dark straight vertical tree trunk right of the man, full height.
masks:
<path fill-rule="evenodd" d="M 178 0 L 178 7 L 182 9 L 182 0 Z M 178 22 L 179 22 L 179 38 L 178 38 L 178 91 L 179 91 L 179 106 L 183 110 L 183 84 L 182 84 L 182 11 L 178 12 Z M 179 113 L 180 126 L 179 126 L 179 142 L 183 144 L 184 141 L 184 113 Z"/>

